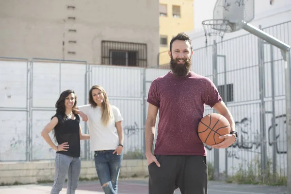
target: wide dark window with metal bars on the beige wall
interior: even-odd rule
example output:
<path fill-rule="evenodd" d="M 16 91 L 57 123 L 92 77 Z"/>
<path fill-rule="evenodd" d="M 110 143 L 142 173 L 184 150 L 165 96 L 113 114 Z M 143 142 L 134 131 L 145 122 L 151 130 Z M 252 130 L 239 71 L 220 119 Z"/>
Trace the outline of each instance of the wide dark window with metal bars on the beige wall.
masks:
<path fill-rule="evenodd" d="M 104 65 L 147 66 L 146 44 L 103 40 L 101 47 Z"/>

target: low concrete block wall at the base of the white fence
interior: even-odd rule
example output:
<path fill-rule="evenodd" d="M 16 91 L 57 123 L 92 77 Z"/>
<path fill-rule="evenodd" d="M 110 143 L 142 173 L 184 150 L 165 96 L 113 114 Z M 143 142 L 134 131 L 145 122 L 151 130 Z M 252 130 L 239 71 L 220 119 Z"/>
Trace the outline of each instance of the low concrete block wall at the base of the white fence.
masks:
<path fill-rule="evenodd" d="M 50 161 L 1 162 L 0 183 L 36 183 L 54 179 L 55 163 Z M 123 160 L 120 177 L 147 176 L 146 160 Z M 94 160 L 81 161 L 80 178 L 97 177 Z"/>

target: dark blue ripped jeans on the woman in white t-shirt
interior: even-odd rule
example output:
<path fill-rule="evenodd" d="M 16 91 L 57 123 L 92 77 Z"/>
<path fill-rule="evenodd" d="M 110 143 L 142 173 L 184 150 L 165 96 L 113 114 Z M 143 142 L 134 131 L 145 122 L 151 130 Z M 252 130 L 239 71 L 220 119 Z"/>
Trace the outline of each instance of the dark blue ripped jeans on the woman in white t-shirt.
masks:
<path fill-rule="evenodd" d="M 94 160 L 97 175 L 105 194 L 117 194 L 117 181 L 123 159 L 121 155 L 113 154 L 114 150 L 95 151 Z"/>

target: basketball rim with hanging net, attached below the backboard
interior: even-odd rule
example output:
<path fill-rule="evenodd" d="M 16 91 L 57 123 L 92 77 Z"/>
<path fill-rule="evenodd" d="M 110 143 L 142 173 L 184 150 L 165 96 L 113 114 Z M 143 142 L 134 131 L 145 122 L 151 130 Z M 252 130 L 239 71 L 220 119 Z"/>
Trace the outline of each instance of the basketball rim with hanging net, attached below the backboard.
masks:
<path fill-rule="evenodd" d="M 226 19 L 207 19 L 202 21 L 203 29 L 205 32 L 205 44 L 207 47 L 208 39 L 209 37 L 211 39 L 212 36 L 216 39 L 217 36 L 221 37 L 221 41 L 223 40 L 223 37 L 225 33 L 227 32 L 229 21 Z"/>

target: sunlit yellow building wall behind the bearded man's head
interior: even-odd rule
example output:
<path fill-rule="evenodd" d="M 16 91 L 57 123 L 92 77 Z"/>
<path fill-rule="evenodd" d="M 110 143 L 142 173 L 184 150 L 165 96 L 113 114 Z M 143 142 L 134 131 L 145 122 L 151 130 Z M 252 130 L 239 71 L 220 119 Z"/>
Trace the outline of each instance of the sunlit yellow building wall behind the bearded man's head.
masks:
<path fill-rule="evenodd" d="M 160 16 L 160 36 L 167 36 L 167 46 L 160 45 L 159 64 L 168 64 L 169 45 L 172 37 L 180 32 L 194 30 L 194 0 L 160 0 L 167 5 L 167 17 Z M 173 17 L 173 5 L 180 6 L 180 18 Z"/>

